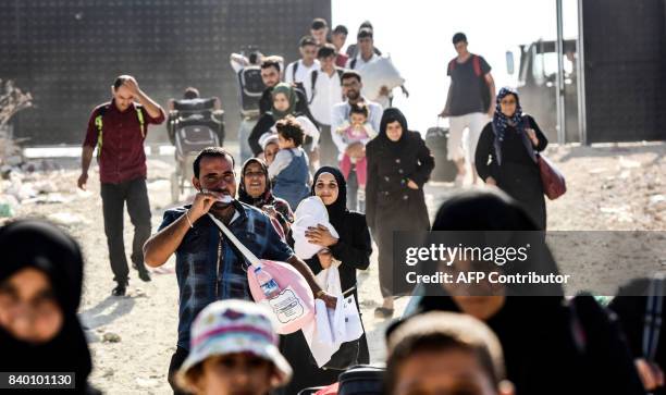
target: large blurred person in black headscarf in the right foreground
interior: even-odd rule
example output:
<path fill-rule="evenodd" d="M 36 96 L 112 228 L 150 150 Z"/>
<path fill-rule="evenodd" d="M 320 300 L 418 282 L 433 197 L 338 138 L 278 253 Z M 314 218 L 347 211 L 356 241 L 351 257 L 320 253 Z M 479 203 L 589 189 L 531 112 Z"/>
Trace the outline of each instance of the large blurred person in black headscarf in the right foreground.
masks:
<path fill-rule="evenodd" d="M 522 206 L 499 189 L 468 190 L 446 200 L 432 231 L 495 234 L 502 246 L 521 245 L 528 260 L 497 267 L 504 274 L 558 273 L 543 233 Z M 538 245 L 540 244 L 540 245 Z M 470 263 L 456 260 L 456 271 Z M 488 268 L 486 267 L 486 268 Z M 501 268 L 501 269 L 497 269 Z M 492 270 L 492 269 L 491 269 Z M 563 284 L 429 284 L 418 312 L 464 312 L 485 322 L 502 343 L 506 375 L 521 394 L 644 394 L 629 348 L 614 318 L 592 296 L 567 299 Z M 547 384 L 546 384 L 547 383 Z"/>

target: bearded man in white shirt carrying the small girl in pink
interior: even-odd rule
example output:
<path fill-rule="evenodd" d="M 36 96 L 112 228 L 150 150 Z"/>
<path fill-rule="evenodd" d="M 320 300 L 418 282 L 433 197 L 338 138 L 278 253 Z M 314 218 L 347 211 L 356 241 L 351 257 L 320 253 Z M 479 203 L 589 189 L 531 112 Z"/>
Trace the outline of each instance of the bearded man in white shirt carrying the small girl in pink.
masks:
<path fill-rule="evenodd" d="M 345 71 L 341 78 L 343 96 L 347 100 L 333 106 L 333 111 L 331 112 L 331 135 L 340 152 L 338 160 L 344 153 L 356 157 L 359 151 L 365 151 L 366 149 L 362 143 L 345 144 L 342 134 L 337 133 L 337 131 L 344 126 L 345 121 L 349 120 L 351 104 L 362 101 L 368 106 L 368 122 L 370 122 L 372 128 L 377 132 L 380 129 L 382 113 L 384 112 L 381 104 L 367 100 L 361 96 L 360 91 L 363 85 L 358 72 L 353 70 Z M 347 208 L 349 210 L 363 212 L 366 209 L 365 202 L 365 196 L 358 196 L 356 169 L 351 169 L 349 178 L 347 180 Z"/>

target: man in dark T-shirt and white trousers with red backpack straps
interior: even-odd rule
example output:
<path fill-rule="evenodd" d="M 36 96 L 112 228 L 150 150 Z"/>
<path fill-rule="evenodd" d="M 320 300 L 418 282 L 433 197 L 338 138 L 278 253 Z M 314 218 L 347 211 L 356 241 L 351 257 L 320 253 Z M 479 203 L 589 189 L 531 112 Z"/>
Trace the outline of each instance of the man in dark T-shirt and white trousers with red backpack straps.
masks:
<path fill-rule="evenodd" d="M 473 183 L 478 178 L 474 171 L 474 151 L 483 126 L 489 116 L 493 116 L 495 82 L 485 59 L 467 50 L 467 37 L 464 33 L 454 35 L 453 45 L 458 55 L 448 62 L 446 75 L 451 76 L 451 85 L 446 107 L 440 115 L 449 119 L 447 159 L 456 163 L 456 184 L 462 185 L 466 159 L 471 164 Z M 466 128 L 469 132 L 462 141 L 462 132 Z"/>

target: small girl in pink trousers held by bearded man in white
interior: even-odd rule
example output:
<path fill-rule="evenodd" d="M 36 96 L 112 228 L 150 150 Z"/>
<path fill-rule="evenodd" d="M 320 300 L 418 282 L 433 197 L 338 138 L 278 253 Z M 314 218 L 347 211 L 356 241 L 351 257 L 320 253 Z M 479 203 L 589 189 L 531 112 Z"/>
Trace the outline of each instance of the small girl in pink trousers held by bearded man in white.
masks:
<path fill-rule="evenodd" d="M 368 107 L 366 103 L 353 104 L 349 111 L 349 124 L 345 123 L 341 128 L 337 129 L 343 137 L 343 141 L 348 146 L 354 143 L 362 143 L 363 146 L 377 136 L 372 125 L 368 122 Z M 340 161 L 340 170 L 345 176 L 345 180 L 349 178 L 349 172 L 351 166 L 356 164 L 356 177 L 358 180 L 359 189 L 366 188 L 367 174 L 368 174 L 368 161 L 365 156 L 365 148 L 360 156 L 350 157 L 347 153 L 343 155 Z"/>

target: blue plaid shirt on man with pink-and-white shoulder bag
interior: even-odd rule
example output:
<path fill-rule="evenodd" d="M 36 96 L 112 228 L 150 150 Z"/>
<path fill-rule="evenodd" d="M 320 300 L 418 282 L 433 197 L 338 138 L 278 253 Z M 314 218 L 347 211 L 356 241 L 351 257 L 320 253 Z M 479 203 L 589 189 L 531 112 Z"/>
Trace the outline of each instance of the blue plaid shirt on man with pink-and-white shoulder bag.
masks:
<path fill-rule="evenodd" d="M 236 200 L 233 205 L 238 215 L 229 229 L 259 259 L 284 262 L 294 255 L 267 214 Z M 166 210 L 159 230 L 176 221 L 190 207 Z M 251 300 L 248 263 L 208 215 L 187 231 L 175 255 L 180 293 L 177 345 L 189 349 L 189 328 L 206 306 L 232 298 Z"/>

